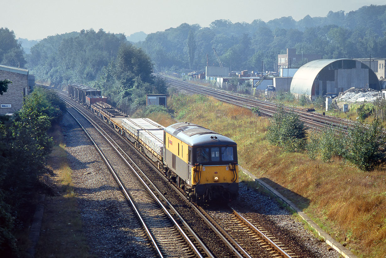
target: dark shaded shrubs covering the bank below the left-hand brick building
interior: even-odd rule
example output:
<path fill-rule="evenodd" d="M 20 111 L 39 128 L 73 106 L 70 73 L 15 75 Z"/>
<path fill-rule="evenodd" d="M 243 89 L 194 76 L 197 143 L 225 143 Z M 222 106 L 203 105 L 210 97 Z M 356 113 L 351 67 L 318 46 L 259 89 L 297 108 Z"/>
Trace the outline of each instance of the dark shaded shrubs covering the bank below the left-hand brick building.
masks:
<path fill-rule="evenodd" d="M 38 175 L 51 151 L 47 135 L 65 105 L 56 94 L 36 89 L 14 116 L 0 116 L 0 253 L 18 256 L 16 231 L 30 223 L 30 202 L 38 191 Z M 33 213 L 32 213 L 33 214 Z"/>

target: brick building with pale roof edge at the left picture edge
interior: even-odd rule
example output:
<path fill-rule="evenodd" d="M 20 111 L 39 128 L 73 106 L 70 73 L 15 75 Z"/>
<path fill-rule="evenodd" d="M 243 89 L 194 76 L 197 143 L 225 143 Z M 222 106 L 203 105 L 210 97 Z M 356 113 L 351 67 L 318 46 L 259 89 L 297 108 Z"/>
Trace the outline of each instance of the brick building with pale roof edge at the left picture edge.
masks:
<path fill-rule="evenodd" d="M 14 113 L 23 106 L 24 97 L 33 90 L 35 76 L 27 69 L 0 65 L 0 81 L 8 79 L 7 92 L 0 95 L 0 115 Z"/>

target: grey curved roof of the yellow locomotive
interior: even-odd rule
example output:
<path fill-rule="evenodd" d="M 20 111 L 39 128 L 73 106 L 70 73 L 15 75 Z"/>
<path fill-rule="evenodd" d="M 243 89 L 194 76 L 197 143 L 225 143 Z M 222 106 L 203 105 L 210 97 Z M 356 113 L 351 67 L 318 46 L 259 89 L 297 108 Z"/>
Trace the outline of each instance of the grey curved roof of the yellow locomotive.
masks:
<path fill-rule="evenodd" d="M 164 131 L 187 143 L 195 146 L 237 145 L 232 139 L 213 132 L 208 128 L 192 123 L 175 123 L 164 128 Z"/>

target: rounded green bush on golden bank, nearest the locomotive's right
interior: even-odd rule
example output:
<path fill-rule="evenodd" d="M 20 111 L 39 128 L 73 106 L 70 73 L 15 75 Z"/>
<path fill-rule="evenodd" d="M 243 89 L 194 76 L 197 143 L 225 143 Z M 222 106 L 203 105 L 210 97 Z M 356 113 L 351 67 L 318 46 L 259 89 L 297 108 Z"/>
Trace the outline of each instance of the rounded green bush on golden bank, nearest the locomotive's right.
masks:
<path fill-rule="evenodd" d="M 288 151 L 299 152 L 306 145 L 305 125 L 294 111 L 284 111 L 284 106 L 278 105 L 267 128 L 267 140 Z"/>

